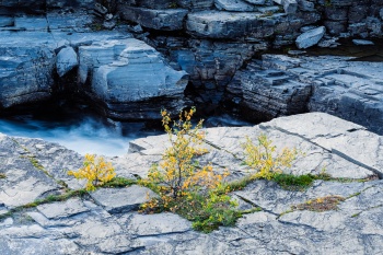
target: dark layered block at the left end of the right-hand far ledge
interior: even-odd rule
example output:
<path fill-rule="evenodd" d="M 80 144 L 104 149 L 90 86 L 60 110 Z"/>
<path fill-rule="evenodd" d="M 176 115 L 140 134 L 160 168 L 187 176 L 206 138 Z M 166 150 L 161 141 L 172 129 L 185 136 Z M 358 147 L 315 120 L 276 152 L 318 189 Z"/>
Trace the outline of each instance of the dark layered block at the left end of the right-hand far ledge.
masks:
<path fill-rule="evenodd" d="M 295 80 L 293 74 L 267 66 L 268 57 L 272 61 L 271 56 L 264 56 L 263 68 L 248 65 L 246 71 L 237 72 L 234 78 L 240 79 L 245 107 L 252 109 L 251 114 L 245 114 L 246 117 L 264 120 L 307 112 L 311 85 Z M 291 67 L 294 65 L 292 62 Z"/>

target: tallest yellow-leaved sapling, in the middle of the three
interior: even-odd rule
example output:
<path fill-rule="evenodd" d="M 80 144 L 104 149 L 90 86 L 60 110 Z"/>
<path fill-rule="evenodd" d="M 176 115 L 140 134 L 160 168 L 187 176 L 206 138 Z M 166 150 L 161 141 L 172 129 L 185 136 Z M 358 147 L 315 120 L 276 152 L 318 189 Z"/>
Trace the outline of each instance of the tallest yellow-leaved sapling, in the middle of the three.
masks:
<path fill-rule="evenodd" d="M 205 132 L 201 129 L 202 120 L 195 127 L 190 121 L 196 109 L 181 112 L 177 121 L 172 121 L 170 114 L 162 111 L 162 125 L 169 135 L 171 146 L 165 150 L 159 165 L 153 165 L 148 181 L 161 187 L 160 193 L 176 199 L 216 188 L 228 173 L 217 174 L 211 165 L 200 166 L 196 157 L 207 153 L 201 147 Z"/>

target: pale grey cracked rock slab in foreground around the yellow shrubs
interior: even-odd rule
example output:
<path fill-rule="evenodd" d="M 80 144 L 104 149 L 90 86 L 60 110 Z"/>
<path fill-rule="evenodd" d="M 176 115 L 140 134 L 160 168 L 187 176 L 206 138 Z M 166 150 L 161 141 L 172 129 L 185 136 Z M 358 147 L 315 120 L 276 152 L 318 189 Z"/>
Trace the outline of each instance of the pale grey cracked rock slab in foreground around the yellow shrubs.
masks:
<path fill-rule="evenodd" d="M 176 215 L 138 213 L 138 205 L 148 199 L 147 188 L 100 188 L 2 218 L 1 254 L 380 254 L 383 183 L 376 176 L 383 175 L 383 138 L 340 118 L 310 113 L 255 127 L 207 129 L 210 152 L 199 161 L 229 167 L 232 178 L 243 176 L 247 170 L 241 142 L 260 132 L 280 149 L 304 152 L 291 173 L 325 171 L 338 181 L 315 181 L 305 192 L 255 181 L 232 197 L 243 209 L 262 211 L 210 234 L 193 231 L 190 222 Z M 108 160 L 118 176 L 144 177 L 165 144 L 166 136 L 138 139 L 130 143 L 130 153 Z M 81 166 L 82 157 L 56 143 L 1 135 L 0 163 L 0 215 L 83 185 L 67 175 Z M 291 210 L 328 196 L 344 199 L 337 210 Z"/>

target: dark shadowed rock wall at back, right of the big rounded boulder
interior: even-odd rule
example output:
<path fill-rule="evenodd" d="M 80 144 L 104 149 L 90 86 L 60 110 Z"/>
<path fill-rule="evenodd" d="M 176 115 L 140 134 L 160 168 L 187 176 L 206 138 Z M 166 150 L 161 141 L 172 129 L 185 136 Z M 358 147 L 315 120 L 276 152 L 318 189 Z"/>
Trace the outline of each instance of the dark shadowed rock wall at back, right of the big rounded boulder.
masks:
<path fill-rule="evenodd" d="M 195 102 L 212 107 L 236 71 L 265 49 L 295 44 L 302 34 L 300 48 L 382 36 L 383 2 L 376 0 L 132 1 L 118 10 L 123 20 L 143 27 L 148 44 L 190 74 Z"/>

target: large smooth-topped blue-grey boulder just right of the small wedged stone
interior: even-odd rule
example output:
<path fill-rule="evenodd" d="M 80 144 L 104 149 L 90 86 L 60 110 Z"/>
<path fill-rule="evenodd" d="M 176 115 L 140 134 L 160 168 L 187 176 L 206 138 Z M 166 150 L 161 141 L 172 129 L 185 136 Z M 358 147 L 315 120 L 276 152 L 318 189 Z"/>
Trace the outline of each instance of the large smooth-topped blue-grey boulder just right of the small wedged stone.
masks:
<path fill-rule="evenodd" d="M 154 48 L 141 40 L 81 46 L 79 57 L 80 82 L 91 84 L 91 92 L 106 104 L 109 116 L 159 118 L 160 108 L 178 112 L 185 106 L 187 73 L 172 69 Z M 156 103 L 147 108 L 152 100 Z"/>

